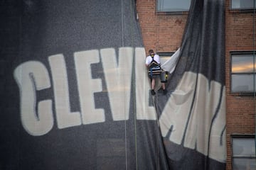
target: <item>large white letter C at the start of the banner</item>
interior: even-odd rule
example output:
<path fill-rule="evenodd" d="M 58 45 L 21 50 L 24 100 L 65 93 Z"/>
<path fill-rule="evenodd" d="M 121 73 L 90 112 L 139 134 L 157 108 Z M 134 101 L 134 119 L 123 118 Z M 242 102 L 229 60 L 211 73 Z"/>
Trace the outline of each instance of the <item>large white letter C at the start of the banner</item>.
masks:
<path fill-rule="evenodd" d="M 38 102 L 36 114 L 36 91 L 50 87 L 46 67 L 41 62 L 25 62 L 14 70 L 14 78 L 20 89 L 23 128 L 30 135 L 45 135 L 53 128 L 52 101 Z"/>

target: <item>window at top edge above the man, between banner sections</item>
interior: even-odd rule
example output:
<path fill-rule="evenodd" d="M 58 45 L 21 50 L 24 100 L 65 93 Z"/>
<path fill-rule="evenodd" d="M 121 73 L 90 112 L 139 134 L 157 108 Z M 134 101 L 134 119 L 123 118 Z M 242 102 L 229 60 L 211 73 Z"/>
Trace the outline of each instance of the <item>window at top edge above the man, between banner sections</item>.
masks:
<path fill-rule="evenodd" d="M 181 12 L 189 11 L 191 0 L 158 0 L 158 12 Z"/>

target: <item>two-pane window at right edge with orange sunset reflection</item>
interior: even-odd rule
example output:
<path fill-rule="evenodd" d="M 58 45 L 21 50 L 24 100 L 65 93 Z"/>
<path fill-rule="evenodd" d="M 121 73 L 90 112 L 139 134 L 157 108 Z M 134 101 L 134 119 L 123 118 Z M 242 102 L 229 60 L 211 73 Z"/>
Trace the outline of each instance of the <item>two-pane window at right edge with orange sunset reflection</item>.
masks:
<path fill-rule="evenodd" d="M 231 92 L 255 93 L 256 60 L 253 52 L 231 52 Z M 254 64 L 253 64 L 254 63 Z"/>

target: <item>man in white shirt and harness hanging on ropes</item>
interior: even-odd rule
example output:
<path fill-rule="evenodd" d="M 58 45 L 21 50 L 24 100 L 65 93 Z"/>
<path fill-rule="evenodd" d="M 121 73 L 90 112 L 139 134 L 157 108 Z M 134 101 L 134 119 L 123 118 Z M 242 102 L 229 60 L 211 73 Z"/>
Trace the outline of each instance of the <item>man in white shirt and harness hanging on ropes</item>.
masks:
<path fill-rule="evenodd" d="M 155 95 L 156 92 L 154 91 L 154 86 L 156 84 L 156 77 L 159 77 L 161 73 L 160 67 L 160 57 L 159 55 L 154 54 L 154 50 L 149 50 L 149 56 L 146 57 L 146 67 L 149 69 L 149 78 L 151 81 L 151 94 Z M 164 94 L 167 93 L 165 89 L 165 84 L 162 83 L 162 88 Z"/>

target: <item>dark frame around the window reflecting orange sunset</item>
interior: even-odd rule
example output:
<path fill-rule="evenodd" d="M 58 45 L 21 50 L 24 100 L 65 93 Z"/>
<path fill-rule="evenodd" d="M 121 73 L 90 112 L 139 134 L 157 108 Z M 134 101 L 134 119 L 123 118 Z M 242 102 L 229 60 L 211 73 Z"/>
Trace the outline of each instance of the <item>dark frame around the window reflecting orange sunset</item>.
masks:
<path fill-rule="evenodd" d="M 232 57 L 233 55 L 252 55 L 255 56 L 255 65 L 256 65 L 256 51 L 231 51 L 230 52 L 230 94 L 240 94 L 240 96 L 253 96 L 254 94 L 256 94 L 256 89 L 255 91 L 233 91 L 233 75 L 241 75 L 241 74 L 255 74 L 255 79 L 256 79 L 256 67 L 254 70 L 254 73 L 247 73 L 247 72 L 240 72 L 240 73 L 233 73 L 232 72 L 232 68 L 233 68 L 233 60 Z"/>

